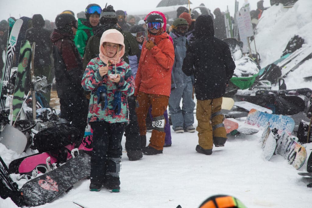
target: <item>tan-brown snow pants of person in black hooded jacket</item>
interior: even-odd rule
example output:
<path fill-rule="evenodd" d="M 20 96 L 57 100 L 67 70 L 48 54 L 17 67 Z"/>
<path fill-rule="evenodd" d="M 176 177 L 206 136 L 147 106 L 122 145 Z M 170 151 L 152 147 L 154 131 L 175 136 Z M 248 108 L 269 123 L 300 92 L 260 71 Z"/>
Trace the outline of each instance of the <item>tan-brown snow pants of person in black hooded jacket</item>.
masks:
<path fill-rule="evenodd" d="M 221 114 L 222 97 L 209 100 L 198 100 L 196 106 L 196 119 L 198 126 L 198 144 L 203 149 L 212 149 L 224 146 L 227 133 L 222 123 L 224 116 Z"/>

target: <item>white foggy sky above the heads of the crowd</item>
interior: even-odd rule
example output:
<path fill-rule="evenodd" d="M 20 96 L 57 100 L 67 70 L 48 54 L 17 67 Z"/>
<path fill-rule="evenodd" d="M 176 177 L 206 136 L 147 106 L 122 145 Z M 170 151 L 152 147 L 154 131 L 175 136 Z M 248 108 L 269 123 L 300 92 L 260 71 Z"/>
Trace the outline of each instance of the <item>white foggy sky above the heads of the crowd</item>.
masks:
<path fill-rule="evenodd" d="M 248 2 L 251 5 L 252 10 L 256 10 L 257 2 L 259 0 L 249 0 Z M 90 3 L 97 3 L 101 7 L 105 7 L 105 3 L 107 5 L 113 5 L 115 10 L 124 10 L 127 11 L 128 14 L 135 15 L 136 12 L 142 10 L 157 10 L 156 6 L 160 2 L 160 0 L 109 0 L 109 1 L 99 1 L 99 0 L 76 0 L 76 1 L 68 1 L 68 0 L 31 0 L 31 1 L 23 1 L 23 0 L 0 0 L 0 20 L 8 19 L 10 16 L 15 18 L 19 18 L 22 16 L 32 18 L 34 14 L 41 14 L 44 19 L 48 19 L 50 21 L 55 20 L 57 14 L 61 13 L 64 10 L 72 10 L 75 12 L 75 17 L 78 12 L 84 11 L 85 7 Z M 144 2 L 144 3 L 142 3 Z M 229 6 L 231 16 L 234 16 L 234 7 L 235 0 L 191 0 L 193 4 L 192 7 L 199 6 L 200 3 L 204 3 L 207 8 L 209 8 L 212 12 L 215 8 L 219 7 L 221 11 L 225 11 L 227 9 L 227 5 Z M 245 0 L 238 0 L 239 7 L 243 5 Z M 264 1 L 264 6 L 270 6 L 270 0 Z"/>

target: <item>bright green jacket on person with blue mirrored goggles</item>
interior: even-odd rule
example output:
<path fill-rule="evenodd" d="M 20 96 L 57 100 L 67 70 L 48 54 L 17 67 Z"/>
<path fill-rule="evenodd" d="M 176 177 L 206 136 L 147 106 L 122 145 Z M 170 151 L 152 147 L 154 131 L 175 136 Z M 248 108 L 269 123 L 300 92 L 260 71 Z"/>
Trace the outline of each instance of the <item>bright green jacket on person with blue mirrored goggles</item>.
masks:
<path fill-rule="evenodd" d="M 74 42 L 81 57 L 83 57 L 85 53 L 85 46 L 87 45 L 89 38 L 93 36 L 93 28 L 89 26 L 91 25 L 87 21 L 87 19 L 78 19 L 78 29 L 75 35 Z"/>

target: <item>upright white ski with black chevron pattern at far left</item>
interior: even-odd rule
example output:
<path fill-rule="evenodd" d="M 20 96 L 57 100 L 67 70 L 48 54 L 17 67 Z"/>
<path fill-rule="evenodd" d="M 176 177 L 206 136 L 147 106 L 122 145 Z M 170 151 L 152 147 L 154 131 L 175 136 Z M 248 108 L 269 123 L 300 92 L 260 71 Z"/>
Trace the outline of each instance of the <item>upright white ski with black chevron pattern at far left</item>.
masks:
<path fill-rule="evenodd" d="M 4 88 L 7 87 L 8 81 L 10 79 L 11 74 L 11 67 L 13 62 L 13 56 L 15 53 L 15 47 L 17 43 L 17 37 L 19 34 L 19 31 L 22 27 L 23 21 L 21 19 L 18 19 L 11 30 L 10 37 L 7 42 L 7 54 L 5 57 L 4 67 L 2 70 L 2 79 L 0 83 L 0 111 L 4 109 L 5 107 L 5 101 L 7 99 L 7 93 L 4 92 Z"/>

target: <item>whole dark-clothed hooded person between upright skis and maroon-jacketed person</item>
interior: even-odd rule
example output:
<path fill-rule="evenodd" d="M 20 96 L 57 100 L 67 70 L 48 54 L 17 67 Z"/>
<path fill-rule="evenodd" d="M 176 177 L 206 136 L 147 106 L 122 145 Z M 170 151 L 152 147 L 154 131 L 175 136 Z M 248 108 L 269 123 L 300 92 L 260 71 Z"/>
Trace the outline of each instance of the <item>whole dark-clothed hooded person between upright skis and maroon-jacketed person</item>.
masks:
<path fill-rule="evenodd" d="M 26 31 L 26 40 L 35 46 L 34 56 L 34 74 L 35 76 L 45 76 L 48 84 L 52 83 L 51 73 L 51 55 L 52 55 L 52 42 L 50 40 L 51 31 L 43 28 L 45 21 L 41 14 L 34 14 L 32 16 L 32 28 Z M 47 102 L 50 102 L 51 91 L 43 94 Z"/>

